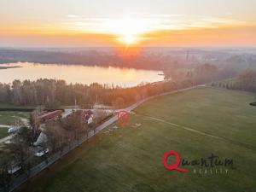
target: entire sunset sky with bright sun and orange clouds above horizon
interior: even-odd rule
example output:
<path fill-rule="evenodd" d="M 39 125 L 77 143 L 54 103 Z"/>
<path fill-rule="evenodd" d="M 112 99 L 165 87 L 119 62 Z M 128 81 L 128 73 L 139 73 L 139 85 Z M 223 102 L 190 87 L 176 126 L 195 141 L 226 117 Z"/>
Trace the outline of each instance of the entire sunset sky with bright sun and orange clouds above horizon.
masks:
<path fill-rule="evenodd" d="M 256 46 L 255 0 L 9 0 L 0 46 Z"/>

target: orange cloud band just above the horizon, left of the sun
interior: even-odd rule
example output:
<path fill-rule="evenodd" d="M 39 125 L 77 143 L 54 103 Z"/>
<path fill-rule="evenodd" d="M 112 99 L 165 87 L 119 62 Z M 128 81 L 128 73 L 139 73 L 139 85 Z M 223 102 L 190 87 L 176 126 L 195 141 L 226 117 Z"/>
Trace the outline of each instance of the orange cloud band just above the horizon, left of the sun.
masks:
<path fill-rule="evenodd" d="M 117 37 L 112 34 L 92 33 L 0 33 L 0 46 L 115 46 L 118 45 L 114 40 L 115 38 Z"/>

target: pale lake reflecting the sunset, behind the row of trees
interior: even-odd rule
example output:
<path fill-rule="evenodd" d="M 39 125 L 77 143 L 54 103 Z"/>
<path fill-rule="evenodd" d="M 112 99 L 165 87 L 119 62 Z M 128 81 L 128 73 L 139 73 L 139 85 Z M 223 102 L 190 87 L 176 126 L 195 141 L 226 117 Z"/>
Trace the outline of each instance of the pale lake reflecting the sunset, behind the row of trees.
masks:
<path fill-rule="evenodd" d="M 119 67 L 96 67 L 82 65 L 40 64 L 18 62 L 1 64 L 10 67 L 0 69 L 0 82 L 11 83 L 15 79 L 64 79 L 67 83 L 114 84 L 125 87 L 142 82 L 152 83 L 164 79 L 161 71 Z"/>

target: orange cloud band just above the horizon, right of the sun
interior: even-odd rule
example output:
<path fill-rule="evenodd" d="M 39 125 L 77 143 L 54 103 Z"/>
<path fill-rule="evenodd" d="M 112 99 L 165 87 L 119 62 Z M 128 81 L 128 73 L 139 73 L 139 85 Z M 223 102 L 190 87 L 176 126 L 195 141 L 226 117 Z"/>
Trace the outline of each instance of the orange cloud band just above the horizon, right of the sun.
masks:
<path fill-rule="evenodd" d="M 146 46 L 256 46 L 256 26 L 165 30 L 144 34 Z"/>

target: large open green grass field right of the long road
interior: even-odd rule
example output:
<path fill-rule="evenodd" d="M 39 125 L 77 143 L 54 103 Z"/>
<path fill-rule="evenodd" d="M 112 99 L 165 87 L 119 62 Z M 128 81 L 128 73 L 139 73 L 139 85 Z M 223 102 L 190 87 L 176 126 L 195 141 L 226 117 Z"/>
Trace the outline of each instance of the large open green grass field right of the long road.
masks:
<path fill-rule="evenodd" d="M 246 92 L 198 88 L 145 102 L 128 127 L 103 131 L 20 190 L 254 192 L 256 108 L 249 105 L 254 101 Z M 136 123 L 142 126 L 135 128 Z M 213 153 L 233 159 L 235 169 L 228 174 L 167 171 L 161 161 L 172 149 L 183 158 Z"/>

